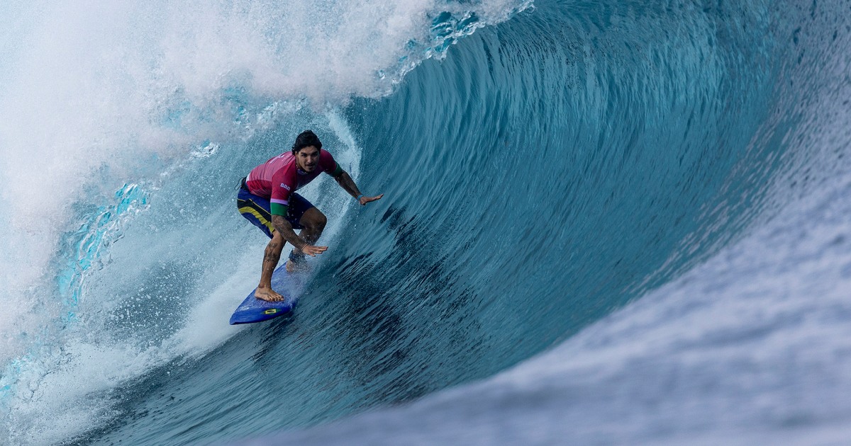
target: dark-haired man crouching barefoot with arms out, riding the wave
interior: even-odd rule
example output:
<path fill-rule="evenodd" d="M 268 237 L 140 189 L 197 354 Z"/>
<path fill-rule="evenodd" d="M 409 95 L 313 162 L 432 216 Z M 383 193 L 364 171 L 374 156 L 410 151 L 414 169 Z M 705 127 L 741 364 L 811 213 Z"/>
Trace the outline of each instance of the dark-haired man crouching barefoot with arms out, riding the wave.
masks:
<path fill-rule="evenodd" d="M 283 300 L 283 296 L 271 289 L 271 274 L 281 258 L 285 242 L 294 246 L 286 266 L 290 273 L 304 268 L 306 255 L 314 257 L 328 249 L 328 246 L 314 245 L 325 229 L 325 215 L 295 193 L 322 172 L 334 178 L 361 206 L 384 196 L 361 194 L 354 180 L 334 161 L 334 156 L 322 149 L 322 142 L 310 130 L 295 138 L 291 151 L 254 167 L 248 177 L 243 178 L 237 195 L 237 208 L 243 217 L 271 239 L 263 257 L 260 285 L 254 292 L 258 299 L 270 302 Z M 301 229 L 301 233 L 295 234 L 294 229 Z"/>

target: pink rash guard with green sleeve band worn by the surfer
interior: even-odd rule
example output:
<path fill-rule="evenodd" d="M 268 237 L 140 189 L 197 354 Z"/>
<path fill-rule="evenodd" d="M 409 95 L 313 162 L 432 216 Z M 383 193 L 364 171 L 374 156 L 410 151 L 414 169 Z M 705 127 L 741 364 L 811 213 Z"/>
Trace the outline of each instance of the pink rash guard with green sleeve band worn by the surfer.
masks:
<path fill-rule="evenodd" d="M 319 150 L 319 161 L 313 172 L 301 170 L 295 163 L 293 153 L 286 152 L 254 167 L 245 178 L 245 185 L 248 186 L 248 192 L 269 199 L 272 215 L 285 216 L 289 195 L 313 181 L 322 172 L 333 177 L 343 172 L 337 161 L 334 161 L 334 156 L 327 150 Z"/>

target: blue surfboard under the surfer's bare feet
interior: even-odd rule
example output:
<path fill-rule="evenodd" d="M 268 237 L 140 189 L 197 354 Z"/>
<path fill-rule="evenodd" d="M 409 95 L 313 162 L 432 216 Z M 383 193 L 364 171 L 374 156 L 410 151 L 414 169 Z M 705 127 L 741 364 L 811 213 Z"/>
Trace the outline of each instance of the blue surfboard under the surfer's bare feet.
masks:
<path fill-rule="evenodd" d="M 264 320 L 274 319 L 293 311 L 295 303 L 304 290 L 306 274 L 288 273 L 286 263 L 277 267 L 271 274 L 271 289 L 283 296 L 283 301 L 266 302 L 254 297 L 254 291 L 239 304 L 237 311 L 231 315 L 231 325 L 253 324 Z"/>

